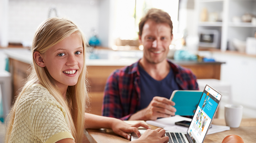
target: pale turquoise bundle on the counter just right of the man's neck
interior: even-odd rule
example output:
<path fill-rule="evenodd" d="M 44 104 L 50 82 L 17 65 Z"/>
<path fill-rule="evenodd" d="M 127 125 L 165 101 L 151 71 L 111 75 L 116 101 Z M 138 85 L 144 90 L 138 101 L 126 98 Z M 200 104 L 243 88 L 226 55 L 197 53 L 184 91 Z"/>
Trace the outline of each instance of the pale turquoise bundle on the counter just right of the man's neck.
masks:
<path fill-rule="evenodd" d="M 189 51 L 176 50 L 173 56 L 174 60 L 177 61 L 197 61 L 197 56 Z"/>

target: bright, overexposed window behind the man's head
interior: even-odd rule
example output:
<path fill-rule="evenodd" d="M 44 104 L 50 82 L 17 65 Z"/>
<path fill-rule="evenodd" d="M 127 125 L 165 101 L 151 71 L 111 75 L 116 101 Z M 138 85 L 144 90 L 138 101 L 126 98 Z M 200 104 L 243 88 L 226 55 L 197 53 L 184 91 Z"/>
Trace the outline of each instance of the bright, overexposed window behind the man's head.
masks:
<path fill-rule="evenodd" d="M 148 9 L 157 8 L 166 11 L 173 22 L 173 33 L 178 29 L 179 0 L 116 0 L 113 17 L 113 45 L 119 45 L 120 40 L 138 40 L 139 22 Z M 124 42 L 123 40 L 126 40 Z M 119 45 L 121 46 L 122 43 Z M 122 45 L 125 46 L 125 45 Z"/>

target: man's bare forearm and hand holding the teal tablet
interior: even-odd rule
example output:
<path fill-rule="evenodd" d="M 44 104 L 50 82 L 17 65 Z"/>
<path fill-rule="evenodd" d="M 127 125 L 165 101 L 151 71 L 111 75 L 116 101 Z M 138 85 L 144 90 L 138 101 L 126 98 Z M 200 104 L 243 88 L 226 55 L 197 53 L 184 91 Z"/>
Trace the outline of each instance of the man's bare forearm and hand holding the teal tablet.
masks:
<path fill-rule="evenodd" d="M 148 107 L 131 115 L 129 120 L 156 120 L 157 118 L 175 115 L 175 103 L 164 97 L 154 97 Z"/>

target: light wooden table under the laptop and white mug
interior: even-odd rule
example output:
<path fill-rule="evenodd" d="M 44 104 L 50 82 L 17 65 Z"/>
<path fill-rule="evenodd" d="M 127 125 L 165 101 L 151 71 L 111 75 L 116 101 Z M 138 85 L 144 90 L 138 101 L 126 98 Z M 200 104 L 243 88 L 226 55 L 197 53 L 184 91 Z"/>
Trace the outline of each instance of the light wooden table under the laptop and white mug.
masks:
<path fill-rule="evenodd" d="M 213 119 L 213 124 L 226 125 L 224 119 Z M 152 129 L 157 127 L 151 126 Z M 84 133 L 91 143 L 128 143 L 129 140 L 115 133 L 106 133 L 104 130 L 86 129 Z M 230 134 L 240 136 L 245 143 L 256 142 L 256 119 L 242 119 L 239 128 L 230 128 L 229 131 L 219 132 L 207 135 L 204 143 L 221 143 L 222 140 Z"/>

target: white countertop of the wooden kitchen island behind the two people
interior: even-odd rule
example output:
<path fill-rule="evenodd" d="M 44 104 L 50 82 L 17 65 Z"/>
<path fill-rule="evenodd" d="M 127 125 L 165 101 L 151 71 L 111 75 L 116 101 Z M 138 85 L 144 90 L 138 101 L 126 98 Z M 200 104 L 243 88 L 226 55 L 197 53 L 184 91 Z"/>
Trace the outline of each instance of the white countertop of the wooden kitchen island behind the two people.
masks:
<path fill-rule="evenodd" d="M 12 59 L 32 64 L 32 57 L 30 50 L 26 48 L 8 48 L 4 53 Z M 96 53 L 96 54 L 94 54 Z M 110 50 L 97 50 L 97 52 L 90 52 L 86 54 L 87 66 L 129 66 L 137 62 L 142 56 L 142 51 L 110 51 Z M 96 57 L 95 57 L 96 55 Z M 201 65 L 201 64 L 223 64 L 223 62 L 198 62 L 198 61 L 175 61 L 172 62 L 179 65 Z"/>

